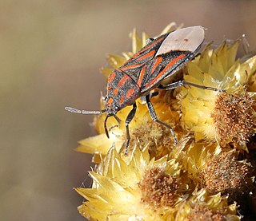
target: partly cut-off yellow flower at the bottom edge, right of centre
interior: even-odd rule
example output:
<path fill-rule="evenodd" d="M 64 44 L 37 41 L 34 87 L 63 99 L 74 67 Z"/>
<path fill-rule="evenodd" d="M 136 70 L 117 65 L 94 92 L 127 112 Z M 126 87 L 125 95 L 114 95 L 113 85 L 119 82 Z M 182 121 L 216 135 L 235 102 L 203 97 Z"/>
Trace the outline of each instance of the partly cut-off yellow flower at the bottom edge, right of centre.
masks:
<path fill-rule="evenodd" d="M 240 220 L 236 209 L 236 204 L 229 205 L 227 197 L 220 193 L 209 195 L 206 189 L 195 190 L 190 199 L 180 207 L 175 220 Z"/>

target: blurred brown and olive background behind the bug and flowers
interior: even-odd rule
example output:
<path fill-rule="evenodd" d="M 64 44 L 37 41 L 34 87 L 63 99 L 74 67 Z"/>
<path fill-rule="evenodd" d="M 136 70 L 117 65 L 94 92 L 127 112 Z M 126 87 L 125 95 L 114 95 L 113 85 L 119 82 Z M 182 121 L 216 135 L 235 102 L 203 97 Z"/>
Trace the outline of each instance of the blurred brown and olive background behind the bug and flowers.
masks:
<path fill-rule="evenodd" d="M 1 220 L 84 220 L 73 187 L 90 185 L 91 156 L 74 152 L 93 136 L 107 53 L 131 48 L 136 27 L 155 36 L 170 22 L 208 29 L 206 41 L 246 34 L 256 46 L 256 1 L 1 0 Z"/>

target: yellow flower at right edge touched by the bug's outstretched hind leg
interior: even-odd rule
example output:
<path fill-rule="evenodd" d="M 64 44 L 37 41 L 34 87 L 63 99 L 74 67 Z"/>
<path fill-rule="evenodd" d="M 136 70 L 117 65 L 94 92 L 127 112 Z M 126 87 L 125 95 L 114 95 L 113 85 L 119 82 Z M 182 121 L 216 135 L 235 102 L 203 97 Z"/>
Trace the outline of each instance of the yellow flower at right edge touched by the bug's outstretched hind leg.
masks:
<path fill-rule="evenodd" d="M 182 105 L 182 124 L 194 132 L 196 141 L 217 141 L 221 146 L 234 144 L 246 150 L 246 142 L 255 132 L 254 94 L 245 85 L 254 77 L 256 56 L 236 60 L 239 41 L 225 42 L 217 50 L 210 45 L 187 65 L 184 80 L 197 85 L 224 89 L 213 90 L 182 87 L 177 89 Z"/>

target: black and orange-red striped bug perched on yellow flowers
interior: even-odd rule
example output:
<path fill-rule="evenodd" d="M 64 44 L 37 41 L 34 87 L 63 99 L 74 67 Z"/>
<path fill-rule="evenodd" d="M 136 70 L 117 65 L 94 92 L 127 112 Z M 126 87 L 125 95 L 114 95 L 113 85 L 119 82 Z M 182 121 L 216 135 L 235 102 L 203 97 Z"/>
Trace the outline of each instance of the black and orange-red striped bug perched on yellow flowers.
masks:
<path fill-rule="evenodd" d="M 210 89 L 214 91 L 221 91 L 205 87 L 202 85 L 195 85 L 186 81 L 175 81 L 169 85 L 162 85 L 162 80 L 167 77 L 174 77 L 178 69 L 186 65 L 195 54 L 204 41 L 204 29 L 202 26 L 192 26 L 175 30 L 169 34 L 163 34 L 155 39 L 150 39 L 148 44 L 144 46 L 133 57 L 118 69 L 115 69 L 108 78 L 107 93 L 106 93 L 106 109 L 100 111 L 78 110 L 70 107 L 65 109 L 70 112 L 77 112 L 82 114 L 102 114 L 106 112 L 104 127 L 106 136 L 109 137 L 106 128 L 106 120 L 110 116 L 120 122 L 116 113 L 126 107 L 133 105 L 133 109 L 126 117 L 126 151 L 130 142 L 129 124 L 134 118 L 136 112 L 136 99 L 145 96 L 146 104 L 150 112 L 152 120 L 166 126 L 170 129 L 170 133 L 174 137 L 174 144 L 178 140 L 174 134 L 174 130 L 170 125 L 158 120 L 154 107 L 150 102 L 150 91 L 152 89 L 175 89 L 182 85 L 190 85 L 201 89 Z"/>

